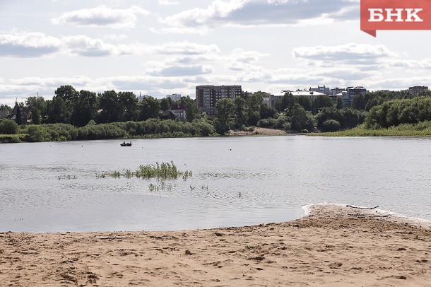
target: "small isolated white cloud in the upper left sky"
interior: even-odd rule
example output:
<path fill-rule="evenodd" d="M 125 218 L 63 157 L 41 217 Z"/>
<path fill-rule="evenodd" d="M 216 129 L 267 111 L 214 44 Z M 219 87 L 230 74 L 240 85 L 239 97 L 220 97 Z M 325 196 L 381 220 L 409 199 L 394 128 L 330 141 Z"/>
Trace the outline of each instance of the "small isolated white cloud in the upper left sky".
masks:
<path fill-rule="evenodd" d="M 52 23 L 78 27 L 134 28 L 138 15 L 148 16 L 150 12 L 139 6 L 131 6 L 128 9 L 98 6 L 66 12 L 57 18 L 52 18 Z"/>

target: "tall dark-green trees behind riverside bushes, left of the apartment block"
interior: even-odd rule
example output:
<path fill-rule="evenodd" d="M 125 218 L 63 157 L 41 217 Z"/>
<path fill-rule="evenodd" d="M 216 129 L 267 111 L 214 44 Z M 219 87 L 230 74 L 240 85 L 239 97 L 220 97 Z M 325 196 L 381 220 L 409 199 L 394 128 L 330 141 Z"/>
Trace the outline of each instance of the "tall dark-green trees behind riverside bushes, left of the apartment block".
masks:
<path fill-rule="evenodd" d="M 182 97 L 177 103 L 186 107 L 189 122 L 199 118 L 194 100 Z M 72 86 L 61 86 L 55 90 L 52 100 L 30 97 L 26 104 L 30 107 L 33 124 L 63 123 L 84 127 L 90 120 L 97 124 L 107 124 L 158 118 L 160 110 L 169 110 L 172 100 L 164 98 L 159 102 L 155 98 L 146 97 L 138 102 L 132 92 L 107 90 L 96 95 L 88 90 L 77 91 Z"/>

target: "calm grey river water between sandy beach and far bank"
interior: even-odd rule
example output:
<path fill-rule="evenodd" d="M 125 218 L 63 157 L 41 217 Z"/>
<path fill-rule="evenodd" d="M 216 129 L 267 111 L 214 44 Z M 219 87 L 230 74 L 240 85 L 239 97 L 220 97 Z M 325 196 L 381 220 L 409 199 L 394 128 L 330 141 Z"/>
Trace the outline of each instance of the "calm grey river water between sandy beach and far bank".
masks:
<path fill-rule="evenodd" d="M 431 220 L 431 139 L 254 136 L 0 145 L 0 231 L 187 230 L 290 221 L 319 202 Z M 173 162 L 186 180 L 100 178 Z M 158 187 L 158 190 L 150 186 Z"/>

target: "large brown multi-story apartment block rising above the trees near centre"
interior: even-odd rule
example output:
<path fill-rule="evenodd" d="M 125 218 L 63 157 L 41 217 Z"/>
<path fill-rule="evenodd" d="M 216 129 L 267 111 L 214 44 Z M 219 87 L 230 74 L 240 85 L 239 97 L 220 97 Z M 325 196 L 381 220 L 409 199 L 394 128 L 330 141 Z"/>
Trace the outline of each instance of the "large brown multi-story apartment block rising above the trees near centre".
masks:
<path fill-rule="evenodd" d="M 196 104 L 201 112 L 215 115 L 215 102 L 223 98 L 234 99 L 242 94 L 241 86 L 196 86 Z"/>

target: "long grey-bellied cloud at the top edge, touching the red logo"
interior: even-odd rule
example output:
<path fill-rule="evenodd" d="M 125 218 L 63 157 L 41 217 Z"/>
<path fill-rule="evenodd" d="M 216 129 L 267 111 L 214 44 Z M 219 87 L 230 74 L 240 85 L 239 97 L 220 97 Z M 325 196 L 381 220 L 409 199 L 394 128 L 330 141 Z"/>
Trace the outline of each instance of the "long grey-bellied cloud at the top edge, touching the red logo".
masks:
<path fill-rule="evenodd" d="M 317 22 L 350 21 L 358 14 L 358 8 L 357 2 L 349 0 L 215 0 L 206 8 L 182 11 L 160 21 L 191 28 L 297 25 L 310 19 L 317 25 Z"/>

